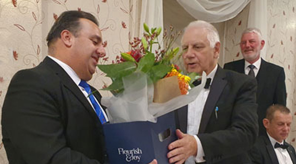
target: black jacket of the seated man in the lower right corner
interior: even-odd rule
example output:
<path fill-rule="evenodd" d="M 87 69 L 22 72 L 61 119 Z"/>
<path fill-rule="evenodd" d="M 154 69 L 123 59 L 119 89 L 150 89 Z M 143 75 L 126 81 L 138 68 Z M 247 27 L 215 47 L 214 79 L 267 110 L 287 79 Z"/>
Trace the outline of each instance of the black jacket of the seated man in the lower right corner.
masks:
<path fill-rule="evenodd" d="M 292 145 L 284 141 L 288 145 L 287 151 L 292 159 L 293 164 L 296 164 L 295 149 Z M 254 147 L 249 152 L 250 159 L 253 164 L 279 164 L 273 145 L 268 136 L 259 136 Z"/>

